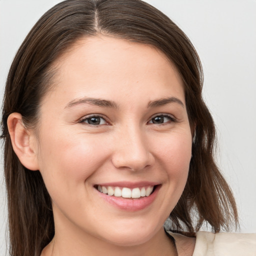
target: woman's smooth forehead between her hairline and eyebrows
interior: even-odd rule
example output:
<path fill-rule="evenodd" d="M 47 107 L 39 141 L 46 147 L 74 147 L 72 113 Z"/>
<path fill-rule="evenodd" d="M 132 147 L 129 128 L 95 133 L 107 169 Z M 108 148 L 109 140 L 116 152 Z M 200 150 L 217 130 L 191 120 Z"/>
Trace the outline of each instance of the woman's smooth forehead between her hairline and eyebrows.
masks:
<path fill-rule="evenodd" d="M 141 101 L 141 95 L 147 94 L 149 101 L 154 96 L 184 94 L 176 68 L 160 50 L 124 39 L 81 38 L 55 66 L 54 91 L 61 90 L 62 98 L 96 96 L 120 100 L 120 96 L 132 94 L 134 100 Z"/>

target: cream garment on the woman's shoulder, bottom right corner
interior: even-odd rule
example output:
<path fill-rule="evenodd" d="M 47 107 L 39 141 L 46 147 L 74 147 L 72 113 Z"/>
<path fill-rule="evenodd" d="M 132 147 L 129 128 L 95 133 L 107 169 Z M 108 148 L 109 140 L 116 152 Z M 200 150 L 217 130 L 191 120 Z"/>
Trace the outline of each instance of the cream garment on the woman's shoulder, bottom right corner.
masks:
<path fill-rule="evenodd" d="M 192 256 L 256 256 L 256 233 L 199 231 Z"/>

